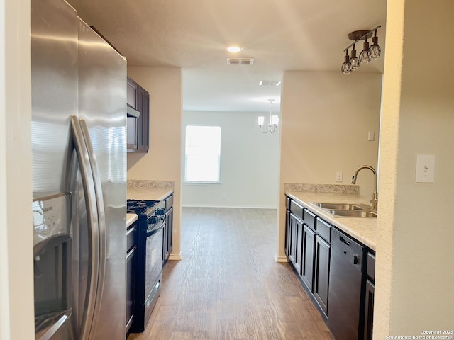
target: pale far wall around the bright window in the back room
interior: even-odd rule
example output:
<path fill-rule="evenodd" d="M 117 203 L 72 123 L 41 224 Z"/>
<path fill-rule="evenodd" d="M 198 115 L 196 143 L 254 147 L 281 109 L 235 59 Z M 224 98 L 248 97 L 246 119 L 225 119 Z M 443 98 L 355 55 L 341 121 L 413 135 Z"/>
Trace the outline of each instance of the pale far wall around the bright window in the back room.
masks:
<path fill-rule="evenodd" d="M 183 183 L 182 205 L 277 208 L 280 127 L 274 134 L 263 134 L 259 115 L 263 114 L 184 111 L 182 150 L 186 125 L 221 126 L 221 183 Z"/>

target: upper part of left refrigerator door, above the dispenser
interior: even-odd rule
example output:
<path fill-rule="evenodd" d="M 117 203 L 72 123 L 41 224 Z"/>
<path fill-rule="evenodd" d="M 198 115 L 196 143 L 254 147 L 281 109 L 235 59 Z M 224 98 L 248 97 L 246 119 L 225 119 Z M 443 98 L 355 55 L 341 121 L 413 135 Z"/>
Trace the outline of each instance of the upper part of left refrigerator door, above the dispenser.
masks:
<path fill-rule="evenodd" d="M 70 117 L 77 115 L 77 13 L 65 1 L 31 1 L 33 198 L 64 193 Z"/>

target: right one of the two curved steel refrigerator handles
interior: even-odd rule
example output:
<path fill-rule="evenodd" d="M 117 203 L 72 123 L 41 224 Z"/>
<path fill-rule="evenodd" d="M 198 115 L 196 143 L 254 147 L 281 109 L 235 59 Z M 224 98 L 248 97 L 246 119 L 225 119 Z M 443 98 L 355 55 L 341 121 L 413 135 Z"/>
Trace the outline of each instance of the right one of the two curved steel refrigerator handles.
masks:
<path fill-rule="evenodd" d="M 99 167 L 94 154 L 94 147 L 92 138 L 89 135 L 87 123 L 83 118 L 79 120 L 82 134 L 84 135 L 85 145 L 87 145 L 87 152 L 92 167 L 92 175 L 94 181 L 94 191 L 96 195 L 96 208 L 98 210 L 98 235 L 99 235 L 99 262 L 98 262 L 98 283 L 96 291 L 95 306 L 101 305 L 101 297 L 104 287 L 104 274 L 106 271 L 106 213 L 104 210 L 104 199 L 101 187 L 101 176 L 99 176 Z M 93 324 L 99 317 L 99 312 L 95 307 Z"/>

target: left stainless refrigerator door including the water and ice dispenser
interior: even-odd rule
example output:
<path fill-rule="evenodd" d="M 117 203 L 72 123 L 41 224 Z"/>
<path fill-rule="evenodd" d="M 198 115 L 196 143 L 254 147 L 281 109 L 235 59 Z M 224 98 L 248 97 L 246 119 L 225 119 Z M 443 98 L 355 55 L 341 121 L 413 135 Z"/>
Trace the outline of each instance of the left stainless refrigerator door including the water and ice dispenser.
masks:
<path fill-rule="evenodd" d="M 78 112 L 77 20 L 65 1 L 31 1 L 33 204 L 43 204 L 45 216 L 41 223 L 39 206 L 33 207 L 36 339 L 77 339 L 71 287 L 77 217 L 74 200 L 59 194 L 78 195 L 70 188 L 70 117 Z"/>

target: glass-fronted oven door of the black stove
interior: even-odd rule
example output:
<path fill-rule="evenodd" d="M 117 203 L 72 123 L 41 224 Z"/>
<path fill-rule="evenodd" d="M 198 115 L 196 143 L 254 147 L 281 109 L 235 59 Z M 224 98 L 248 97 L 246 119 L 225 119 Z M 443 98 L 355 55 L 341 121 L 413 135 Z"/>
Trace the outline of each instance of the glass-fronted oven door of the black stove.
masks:
<path fill-rule="evenodd" d="M 147 232 L 145 245 L 145 324 L 160 293 L 162 275 L 162 237 L 165 220 Z"/>

